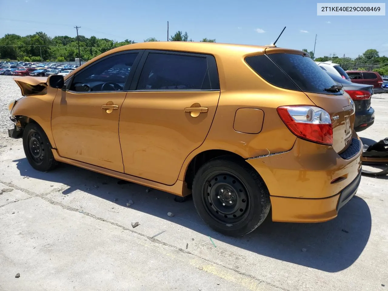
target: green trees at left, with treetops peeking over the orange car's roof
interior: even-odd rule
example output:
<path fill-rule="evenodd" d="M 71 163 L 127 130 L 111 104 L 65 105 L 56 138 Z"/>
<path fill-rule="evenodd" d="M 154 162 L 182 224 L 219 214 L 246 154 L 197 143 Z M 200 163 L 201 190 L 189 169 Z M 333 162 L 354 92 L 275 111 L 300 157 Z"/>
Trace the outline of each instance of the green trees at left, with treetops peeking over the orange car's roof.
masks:
<path fill-rule="evenodd" d="M 103 52 L 115 47 L 135 43 L 133 40 L 126 39 L 122 42 L 109 40 L 107 38 L 97 38 L 80 35 L 81 59 L 88 61 Z M 183 41 L 192 42 L 187 32 L 177 31 L 169 39 L 171 42 Z M 158 42 L 159 40 L 150 37 L 144 42 Z M 201 42 L 216 42 L 215 39 L 203 38 Z M 0 59 L 17 60 L 25 62 L 40 61 L 74 61 L 78 58 L 77 37 L 71 36 L 48 36 L 42 31 L 33 35 L 20 36 L 16 34 L 6 34 L 0 38 Z"/>

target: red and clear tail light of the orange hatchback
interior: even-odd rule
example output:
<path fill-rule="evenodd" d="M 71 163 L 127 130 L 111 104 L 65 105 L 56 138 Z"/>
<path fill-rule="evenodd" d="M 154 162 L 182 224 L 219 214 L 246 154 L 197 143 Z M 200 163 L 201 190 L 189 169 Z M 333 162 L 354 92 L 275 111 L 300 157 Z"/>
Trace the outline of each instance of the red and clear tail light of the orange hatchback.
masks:
<path fill-rule="evenodd" d="M 330 114 L 315 106 L 281 106 L 277 113 L 294 135 L 318 144 L 333 144 Z"/>

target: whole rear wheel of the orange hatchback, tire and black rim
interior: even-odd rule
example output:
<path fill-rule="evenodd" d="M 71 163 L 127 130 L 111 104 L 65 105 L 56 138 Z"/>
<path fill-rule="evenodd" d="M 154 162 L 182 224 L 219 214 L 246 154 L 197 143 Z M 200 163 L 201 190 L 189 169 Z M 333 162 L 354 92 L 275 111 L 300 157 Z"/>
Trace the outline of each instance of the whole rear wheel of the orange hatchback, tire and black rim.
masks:
<path fill-rule="evenodd" d="M 267 217 L 271 203 L 266 185 L 245 161 L 221 157 L 196 173 L 193 200 L 199 216 L 227 236 L 243 236 Z"/>

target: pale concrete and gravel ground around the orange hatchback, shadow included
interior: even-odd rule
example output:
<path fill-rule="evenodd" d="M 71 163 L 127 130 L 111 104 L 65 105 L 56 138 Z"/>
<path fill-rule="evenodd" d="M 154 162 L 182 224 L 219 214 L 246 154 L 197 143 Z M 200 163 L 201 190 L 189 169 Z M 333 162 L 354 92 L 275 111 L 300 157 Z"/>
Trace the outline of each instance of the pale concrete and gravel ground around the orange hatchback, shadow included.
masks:
<path fill-rule="evenodd" d="M 7 104 L 18 97 L 12 77 L 0 76 L 0 290 L 386 290 L 388 176 L 362 177 L 329 222 L 267 220 L 225 237 L 190 200 L 70 165 L 33 170 L 21 139 L 7 137 Z M 379 140 L 388 94 L 372 107 L 376 122 L 360 136 Z"/>

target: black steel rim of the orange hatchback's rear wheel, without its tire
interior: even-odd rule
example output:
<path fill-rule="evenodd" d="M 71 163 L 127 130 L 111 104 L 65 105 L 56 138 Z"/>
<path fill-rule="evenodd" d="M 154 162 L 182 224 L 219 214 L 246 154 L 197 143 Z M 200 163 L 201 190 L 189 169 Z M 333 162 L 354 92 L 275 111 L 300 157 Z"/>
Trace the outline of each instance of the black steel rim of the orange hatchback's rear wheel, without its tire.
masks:
<path fill-rule="evenodd" d="M 231 173 L 213 173 L 203 187 L 203 204 L 213 219 L 236 224 L 248 215 L 249 195 L 246 187 Z"/>

